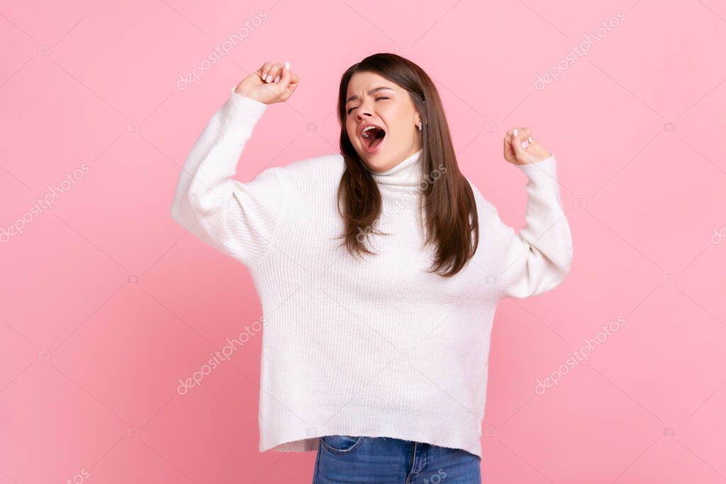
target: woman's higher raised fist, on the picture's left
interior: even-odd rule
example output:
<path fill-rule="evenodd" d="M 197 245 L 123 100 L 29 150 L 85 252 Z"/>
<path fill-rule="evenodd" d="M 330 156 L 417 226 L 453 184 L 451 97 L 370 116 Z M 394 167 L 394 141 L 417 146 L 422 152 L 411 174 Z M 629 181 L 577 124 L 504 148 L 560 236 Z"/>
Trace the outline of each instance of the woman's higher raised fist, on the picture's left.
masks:
<path fill-rule="evenodd" d="M 285 62 L 285 66 L 279 62 L 265 62 L 254 73 L 242 79 L 234 92 L 265 104 L 272 104 L 287 101 L 295 89 L 298 89 L 299 83 L 300 76 L 290 71 L 290 62 Z"/>

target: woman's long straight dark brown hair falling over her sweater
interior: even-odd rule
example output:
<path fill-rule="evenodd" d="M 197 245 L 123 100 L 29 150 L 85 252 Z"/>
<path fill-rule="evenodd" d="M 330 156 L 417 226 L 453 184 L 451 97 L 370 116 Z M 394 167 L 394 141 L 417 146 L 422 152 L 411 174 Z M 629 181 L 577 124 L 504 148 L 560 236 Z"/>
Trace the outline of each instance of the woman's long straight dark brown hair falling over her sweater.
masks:
<path fill-rule="evenodd" d="M 340 154 L 346 163 L 338 185 L 338 213 L 343 217 L 345 245 L 351 255 L 372 254 L 364 238 L 370 233 L 388 235 L 375 229 L 382 210 L 378 184 L 360 159 L 346 129 L 346 92 L 355 73 L 377 73 L 408 91 L 421 115 L 422 196 L 425 213 L 425 245 L 436 245 L 431 270 L 440 276 L 457 274 L 476 253 L 479 243 L 476 201 L 468 181 L 457 165 L 456 154 L 446 123 L 439 92 L 431 78 L 418 65 L 391 53 L 373 54 L 351 67 L 340 79 L 338 120 Z M 433 164 L 438 166 L 434 168 Z M 440 173 L 445 173 L 440 176 Z M 434 181 L 435 180 L 435 181 Z M 343 205 L 341 210 L 340 205 Z M 361 235 L 365 237 L 361 237 Z"/>

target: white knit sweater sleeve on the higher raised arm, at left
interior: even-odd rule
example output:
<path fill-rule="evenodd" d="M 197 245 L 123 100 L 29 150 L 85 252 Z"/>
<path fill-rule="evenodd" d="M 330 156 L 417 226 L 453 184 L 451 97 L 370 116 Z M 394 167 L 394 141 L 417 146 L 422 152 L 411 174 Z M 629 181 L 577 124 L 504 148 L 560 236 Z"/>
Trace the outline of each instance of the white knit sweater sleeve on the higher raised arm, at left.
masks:
<path fill-rule="evenodd" d="M 230 90 L 187 155 L 171 205 L 176 223 L 247 266 L 272 247 L 287 192 L 282 167 L 261 171 L 248 183 L 232 179 L 266 108 Z"/>

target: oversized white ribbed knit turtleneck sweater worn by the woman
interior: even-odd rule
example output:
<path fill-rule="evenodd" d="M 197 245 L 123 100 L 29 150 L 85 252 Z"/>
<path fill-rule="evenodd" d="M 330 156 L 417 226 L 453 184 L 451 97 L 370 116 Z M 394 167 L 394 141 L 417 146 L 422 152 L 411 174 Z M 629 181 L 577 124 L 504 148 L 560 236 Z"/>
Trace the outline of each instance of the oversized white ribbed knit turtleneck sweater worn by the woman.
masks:
<path fill-rule="evenodd" d="M 527 176 L 519 234 L 470 183 L 479 246 L 462 271 L 428 274 L 417 216 L 420 151 L 373 173 L 384 214 L 378 255 L 348 255 L 336 209 L 340 154 L 232 179 L 267 105 L 230 89 L 192 147 L 171 216 L 250 271 L 261 299 L 261 452 L 315 451 L 321 435 L 365 435 L 481 456 L 489 337 L 499 299 L 557 287 L 572 240 L 555 156 Z M 436 163 L 435 163 L 436 164 Z M 445 175 L 444 175 L 445 176 Z"/>

